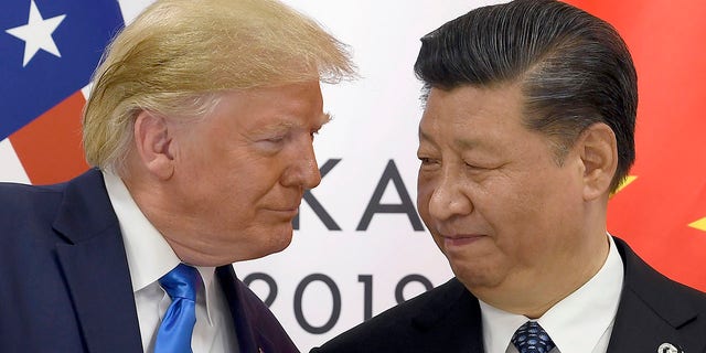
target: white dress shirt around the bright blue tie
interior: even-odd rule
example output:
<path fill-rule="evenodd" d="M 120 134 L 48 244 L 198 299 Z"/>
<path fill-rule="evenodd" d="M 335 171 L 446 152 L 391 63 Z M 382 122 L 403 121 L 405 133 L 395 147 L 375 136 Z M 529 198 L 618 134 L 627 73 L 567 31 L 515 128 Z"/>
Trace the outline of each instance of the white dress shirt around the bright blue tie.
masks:
<path fill-rule="evenodd" d="M 154 351 L 157 331 L 171 303 L 158 280 L 180 259 L 132 200 L 122 180 L 103 172 L 110 203 L 120 223 L 145 352 Z M 237 352 L 228 303 L 214 267 L 196 267 L 203 287 L 196 291 L 196 324 L 191 340 L 194 353 Z"/>

